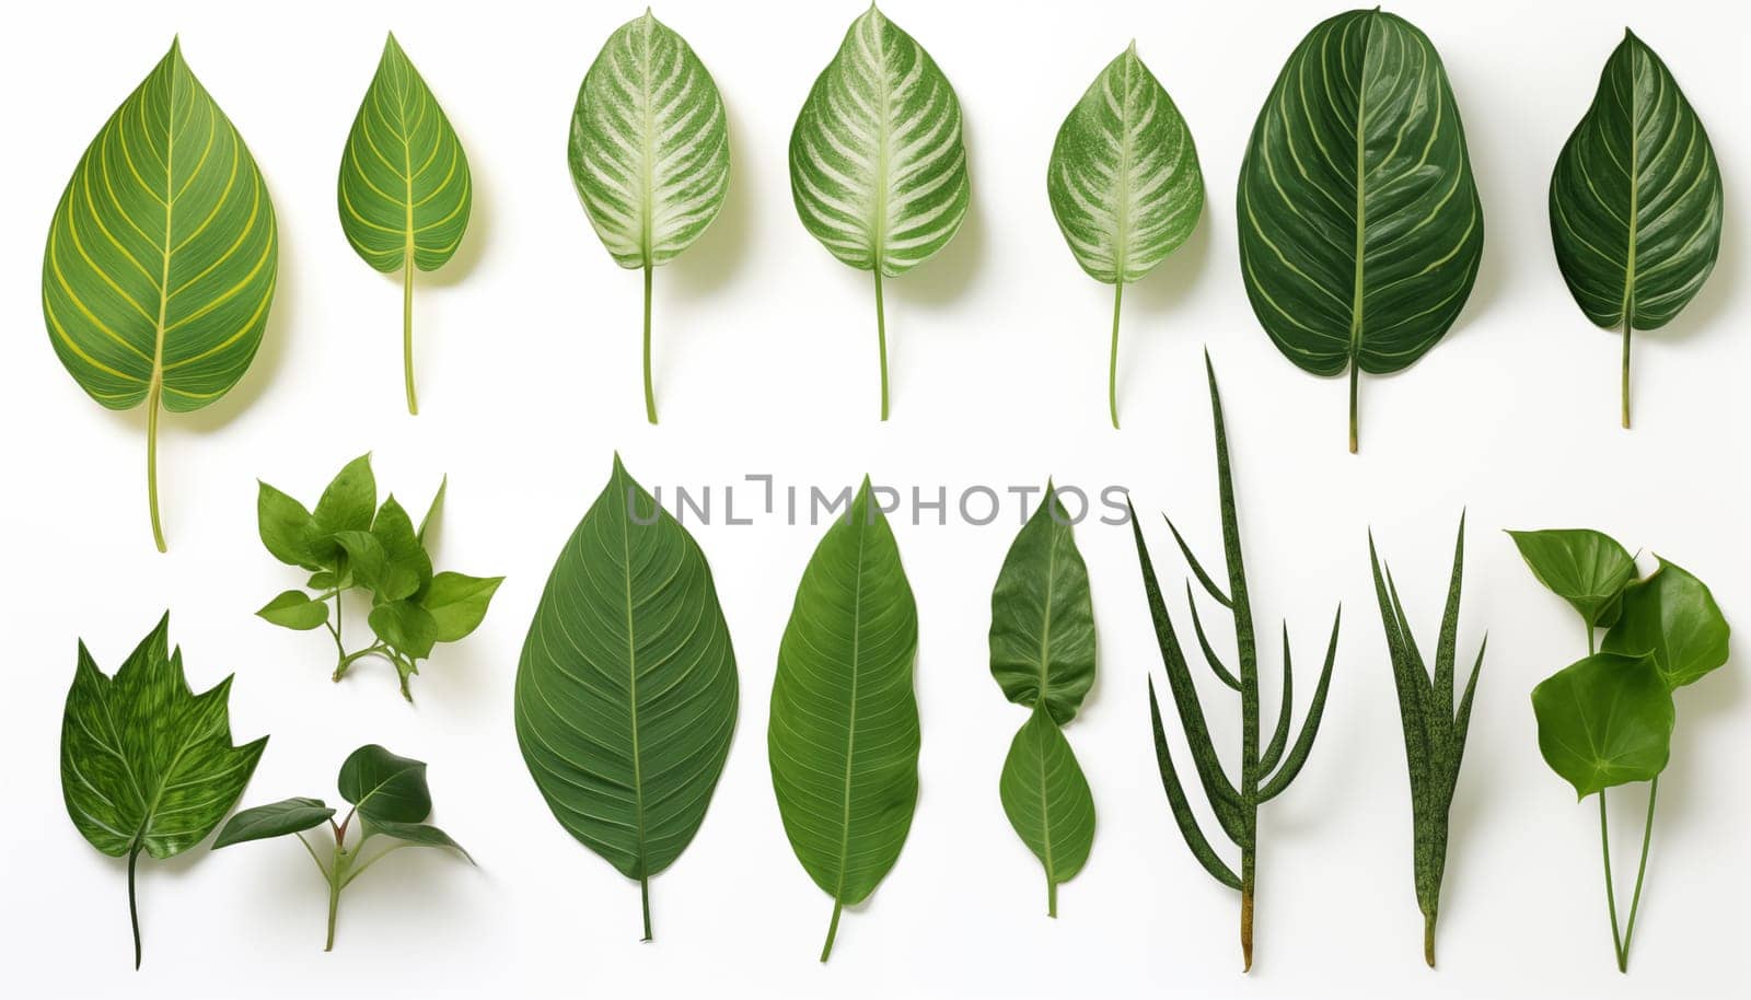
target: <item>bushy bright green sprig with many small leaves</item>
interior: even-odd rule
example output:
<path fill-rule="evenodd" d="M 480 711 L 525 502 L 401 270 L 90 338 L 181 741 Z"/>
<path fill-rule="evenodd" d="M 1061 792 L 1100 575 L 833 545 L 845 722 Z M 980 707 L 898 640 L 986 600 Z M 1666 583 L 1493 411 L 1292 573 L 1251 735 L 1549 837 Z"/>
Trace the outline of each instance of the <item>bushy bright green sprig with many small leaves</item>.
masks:
<path fill-rule="evenodd" d="M 285 590 L 256 615 L 285 629 L 322 629 L 334 637 L 334 680 L 366 657 L 382 657 L 401 674 L 401 695 L 413 701 L 408 678 L 431 657 L 432 644 L 455 643 L 487 616 L 487 604 L 503 576 L 432 573 L 425 532 L 443 508 L 448 480 L 438 485 L 418 529 L 390 496 L 376 506 L 371 455 L 361 455 L 322 490 L 315 511 L 287 494 L 261 483 L 256 517 L 261 543 L 275 559 L 312 573 L 303 590 Z M 348 590 L 371 594 L 366 623 L 376 641 L 347 650 L 341 639 L 341 608 Z M 333 602 L 333 613 L 329 604 Z"/>

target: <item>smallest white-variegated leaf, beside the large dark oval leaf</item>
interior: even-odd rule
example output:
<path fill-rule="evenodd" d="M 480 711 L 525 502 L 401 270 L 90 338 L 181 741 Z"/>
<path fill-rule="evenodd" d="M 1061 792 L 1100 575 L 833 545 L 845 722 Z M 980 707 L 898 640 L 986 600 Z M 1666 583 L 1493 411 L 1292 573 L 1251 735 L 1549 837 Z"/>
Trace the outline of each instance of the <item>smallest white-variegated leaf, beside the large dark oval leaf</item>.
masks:
<path fill-rule="evenodd" d="M 1173 98 L 1131 42 L 1058 130 L 1045 175 L 1052 215 L 1077 263 L 1112 285 L 1107 408 L 1119 427 L 1119 303 L 1177 250 L 1203 214 L 1203 172 Z"/>

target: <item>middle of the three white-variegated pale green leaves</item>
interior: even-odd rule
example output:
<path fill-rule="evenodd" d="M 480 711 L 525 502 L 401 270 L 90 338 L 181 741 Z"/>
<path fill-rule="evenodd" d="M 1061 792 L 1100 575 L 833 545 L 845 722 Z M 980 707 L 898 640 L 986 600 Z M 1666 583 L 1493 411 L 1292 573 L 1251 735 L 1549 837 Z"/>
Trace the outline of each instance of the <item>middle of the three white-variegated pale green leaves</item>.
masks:
<path fill-rule="evenodd" d="M 947 245 L 967 217 L 967 147 L 954 88 L 911 35 L 870 9 L 853 21 L 790 133 L 790 193 L 804 228 L 876 275 L 881 419 L 888 326 L 881 280 Z"/>

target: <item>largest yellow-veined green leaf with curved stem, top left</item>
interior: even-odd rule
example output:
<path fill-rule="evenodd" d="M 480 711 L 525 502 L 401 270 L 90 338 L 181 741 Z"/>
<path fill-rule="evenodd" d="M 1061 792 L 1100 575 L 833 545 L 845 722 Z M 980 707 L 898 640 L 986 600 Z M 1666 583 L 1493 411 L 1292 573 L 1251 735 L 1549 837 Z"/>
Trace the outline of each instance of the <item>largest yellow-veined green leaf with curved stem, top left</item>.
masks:
<path fill-rule="evenodd" d="M 256 161 L 172 42 L 79 159 L 42 254 L 42 315 L 61 364 L 110 410 L 145 403 L 158 513 L 158 413 L 224 396 L 256 357 L 278 238 Z"/>

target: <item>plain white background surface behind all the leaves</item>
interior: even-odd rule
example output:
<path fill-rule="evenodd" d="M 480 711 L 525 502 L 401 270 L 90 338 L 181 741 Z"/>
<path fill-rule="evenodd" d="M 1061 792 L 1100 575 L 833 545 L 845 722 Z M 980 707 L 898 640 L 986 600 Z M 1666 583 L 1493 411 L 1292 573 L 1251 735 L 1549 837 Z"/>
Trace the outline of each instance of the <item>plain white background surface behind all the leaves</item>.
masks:
<path fill-rule="evenodd" d="M 893 420 L 877 424 L 868 275 L 802 229 L 786 173 L 797 109 L 861 5 L 665 0 L 657 14 L 723 89 L 734 180 L 714 228 L 657 275 L 660 427 L 644 424 L 639 398 L 637 275 L 597 243 L 564 159 L 578 81 L 639 7 L 11 11 L 0 60 L 11 135 L 0 200 L 0 970 L 12 995 L 1705 996 L 1742 984 L 1747 664 L 1679 694 L 1625 979 L 1611 958 L 1593 802 L 1576 804 L 1543 765 L 1527 702 L 1539 678 L 1585 651 L 1583 636 L 1499 531 L 1604 529 L 1686 564 L 1751 627 L 1740 208 L 1751 53 L 1739 5 L 1394 5 L 1446 61 L 1488 235 L 1476 291 L 1446 340 L 1410 371 L 1364 382 L 1359 457 L 1345 454 L 1343 382 L 1278 356 L 1247 306 L 1234 250 L 1234 177 L 1254 116 L 1290 49 L 1336 5 L 891 0 L 888 14 L 960 93 L 974 205 L 939 259 L 890 282 Z M 1616 426 L 1616 340 L 1571 301 L 1544 210 L 1557 151 L 1625 23 L 1670 63 L 1707 123 L 1728 196 L 1714 278 L 1667 331 L 1637 335 L 1632 433 Z M 443 102 L 475 172 L 468 240 L 418 285 L 417 419 L 401 399 L 399 278 L 352 254 L 334 210 L 340 151 L 387 28 Z M 170 553 L 158 555 L 144 413 L 103 412 L 63 373 L 39 275 L 81 151 L 173 32 L 266 172 L 280 285 L 236 391 L 163 422 Z M 1044 179 L 1059 121 L 1133 37 L 1191 123 L 1208 208 L 1189 245 L 1126 294 L 1124 431 L 1114 433 L 1110 289 L 1065 249 Z M 1185 851 L 1159 788 L 1143 697 L 1159 658 L 1122 527 L 1079 531 L 1101 674 L 1068 736 L 1100 830 L 1087 869 L 1061 891 L 1061 919 L 1045 918 L 1040 869 L 996 799 L 1024 711 L 986 669 L 989 590 L 1021 513 L 1014 503 L 989 527 L 897 524 L 919 604 L 923 793 L 898 865 L 847 912 L 825 968 L 816 951 L 832 905 L 784 841 L 763 748 L 779 634 L 821 529 L 776 517 L 728 527 L 721 510 L 693 529 L 734 629 L 742 709 L 697 841 L 653 883 L 657 942 L 639 944 L 637 886 L 552 821 L 511 729 L 524 630 L 611 452 L 646 485 L 709 483 L 720 503 L 723 483 L 748 473 L 837 489 L 868 471 L 926 496 L 944 485 L 951 497 L 1047 475 L 1091 490 L 1122 483 L 1150 518 L 1173 592 L 1184 567 L 1156 511 L 1173 511 L 1210 559 L 1219 543 L 1205 347 L 1226 389 L 1261 636 L 1287 615 L 1301 701 L 1333 606 L 1347 608 L 1319 744 L 1261 816 L 1252 975 L 1240 974 L 1236 898 Z M 298 583 L 256 539 L 256 478 L 313 501 L 366 450 L 380 483 L 410 506 L 450 475 L 440 567 L 508 576 L 480 632 L 440 648 L 415 680 L 417 706 L 383 664 L 331 685 L 320 632 L 252 616 Z M 1462 508 L 1462 657 L 1485 629 L 1490 651 L 1453 806 L 1441 970 L 1429 972 L 1364 532 L 1371 525 L 1392 560 L 1427 646 Z M 75 639 L 114 669 L 165 608 L 196 687 L 236 673 L 235 734 L 273 734 L 245 804 L 333 799 L 347 751 L 380 741 L 431 762 L 434 820 L 482 867 L 397 855 L 348 890 L 338 947 L 322 954 L 324 886 L 291 841 L 142 862 L 145 967 L 135 974 L 123 865 L 65 816 L 58 732 Z M 1269 716 L 1278 660 L 1275 643 L 1262 644 Z M 1234 713 L 1210 704 L 1229 748 Z M 1616 816 L 1620 872 L 1634 867 L 1632 799 L 1620 797 Z"/>

